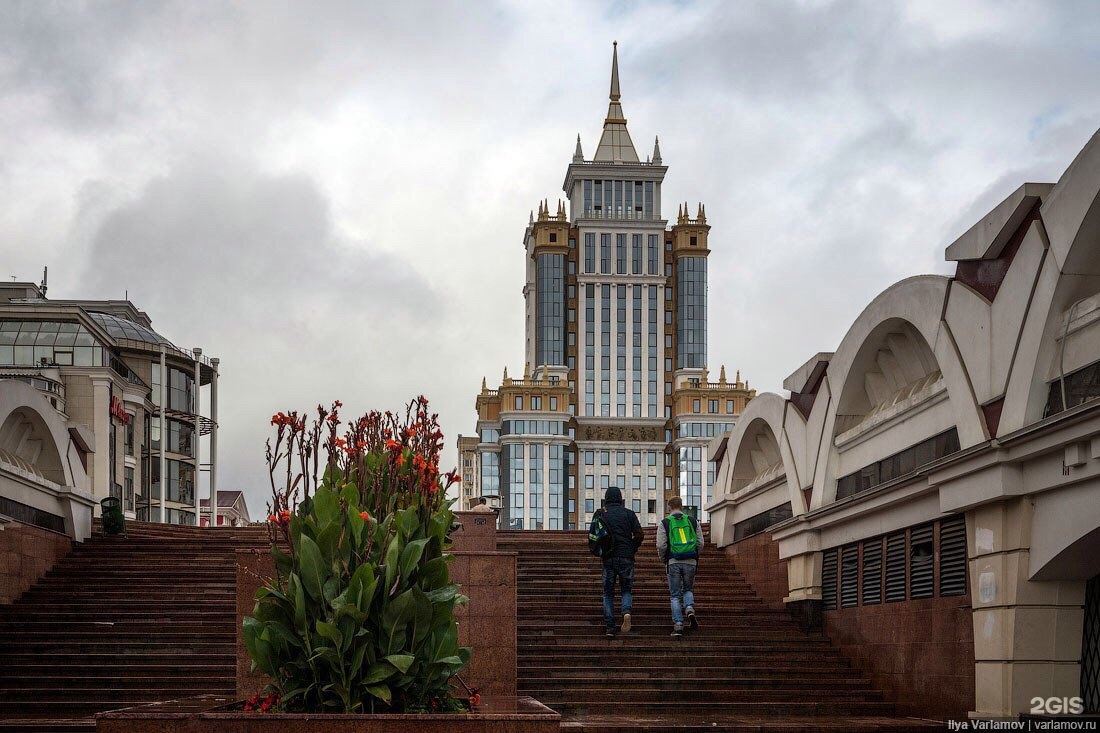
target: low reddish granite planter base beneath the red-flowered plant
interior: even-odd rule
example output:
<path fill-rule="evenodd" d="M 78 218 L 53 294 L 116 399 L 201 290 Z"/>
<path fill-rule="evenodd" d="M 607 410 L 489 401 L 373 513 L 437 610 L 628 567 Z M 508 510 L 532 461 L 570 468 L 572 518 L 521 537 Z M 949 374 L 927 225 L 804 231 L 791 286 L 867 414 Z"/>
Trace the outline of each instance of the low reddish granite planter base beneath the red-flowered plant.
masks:
<path fill-rule="evenodd" d="M 531 698 L 486 697 L 464 714 L 242 712 L 230 698 L 202 696 L 96 715 L 98 733 L 558 733 L 561 715 Z"/>

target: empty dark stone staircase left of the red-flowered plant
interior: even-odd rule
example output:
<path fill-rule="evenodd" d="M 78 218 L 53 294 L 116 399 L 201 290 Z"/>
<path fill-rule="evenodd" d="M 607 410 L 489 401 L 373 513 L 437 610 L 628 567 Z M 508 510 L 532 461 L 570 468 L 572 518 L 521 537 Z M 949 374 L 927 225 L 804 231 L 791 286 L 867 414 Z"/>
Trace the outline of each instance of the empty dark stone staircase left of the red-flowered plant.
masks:
<path fill-rule="evenodd" d="M 96 712 L 232 694 L 234 550 L 262 528 L 129 523 L 0 606 L 0 731 L 92 731 Z"/>

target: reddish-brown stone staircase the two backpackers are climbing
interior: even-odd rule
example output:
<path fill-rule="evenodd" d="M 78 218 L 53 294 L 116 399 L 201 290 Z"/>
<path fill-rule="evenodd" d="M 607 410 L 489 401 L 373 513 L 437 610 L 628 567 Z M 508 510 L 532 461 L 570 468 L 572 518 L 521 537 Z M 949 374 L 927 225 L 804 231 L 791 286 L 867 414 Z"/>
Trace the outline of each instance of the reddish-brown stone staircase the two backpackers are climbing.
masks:
<path fill-rule="evenodd" d="M 827 638 L 760 600 L 717 548 L 704 548 L 695 578 L 701 628 L 671 637 L 654 529 L 638 551 L 632 630 L 606 638 L 601 564 L 585 537 L 497 534 L 498 549 L 519 555 L 519 693 L 560 712 L 563 731 L 941 730 L 894 718 Z"/>

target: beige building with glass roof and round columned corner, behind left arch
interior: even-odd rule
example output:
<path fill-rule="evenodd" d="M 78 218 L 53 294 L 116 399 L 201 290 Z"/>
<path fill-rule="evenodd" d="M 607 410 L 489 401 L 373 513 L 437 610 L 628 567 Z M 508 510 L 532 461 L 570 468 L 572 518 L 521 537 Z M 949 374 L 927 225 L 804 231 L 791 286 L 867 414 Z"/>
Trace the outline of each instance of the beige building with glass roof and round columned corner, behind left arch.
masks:
<path fill-rule="evenodd" d="M 97 512 L 114 496 L 130 518 L 197 523 L 200 471 L 216 485 L 218 365 L 154 331 L 129 300 L 53 300 L 44 283 L 0 285 L 0 393 L 30 386 L 67 426 L 72 446 L 58 449 L 80 463 Z"/>

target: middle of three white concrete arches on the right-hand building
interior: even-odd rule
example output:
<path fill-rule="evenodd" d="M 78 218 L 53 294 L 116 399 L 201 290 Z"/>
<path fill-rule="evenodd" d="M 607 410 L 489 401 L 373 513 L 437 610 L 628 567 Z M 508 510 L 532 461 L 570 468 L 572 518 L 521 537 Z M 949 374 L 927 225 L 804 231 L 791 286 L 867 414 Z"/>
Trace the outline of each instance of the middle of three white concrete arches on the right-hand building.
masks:
<path fill-rule="evenodd" d="M 941 275 L 895 283 L 871 300 L 840 341 L 825 374 L 834 398 L 817 407 L 827 413 L 811 508 L 836 497 L 838 436 L 854 428 L 867 429 L 868 417 L 887 423 L 905 409 L 906 401 L 937 390 L 946 392 L 960 445 L 987 439 L 966 368 L 942 319 L 949 284 Z"/>

